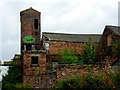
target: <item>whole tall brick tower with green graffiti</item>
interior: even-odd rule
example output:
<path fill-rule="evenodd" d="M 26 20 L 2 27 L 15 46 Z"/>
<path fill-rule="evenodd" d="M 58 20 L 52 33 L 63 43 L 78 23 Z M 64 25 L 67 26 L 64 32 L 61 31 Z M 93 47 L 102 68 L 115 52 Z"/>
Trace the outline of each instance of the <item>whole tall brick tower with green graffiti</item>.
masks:
<path fill-rule="evenodd" d="M 41 86 L 40 75 L 46 72 L 46 51 L 42 50 L 40 40 L 40 14 L 32 8 L 20 12 L 22 81 L 32 87 Z"/>

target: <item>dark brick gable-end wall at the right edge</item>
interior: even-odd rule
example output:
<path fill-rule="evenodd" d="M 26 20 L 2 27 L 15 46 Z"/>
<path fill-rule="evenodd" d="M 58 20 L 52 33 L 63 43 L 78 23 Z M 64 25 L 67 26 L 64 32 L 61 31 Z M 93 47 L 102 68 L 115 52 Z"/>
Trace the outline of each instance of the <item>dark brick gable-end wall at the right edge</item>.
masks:
<path fill-rule="evenodd" d="M 97 48 L 97 56 L 99 60 L 106 58 L 106 56 L 118 57 L 118 49 L 112 46 L 112 42 L 120 40 L 120 36 L 105 28 Z"/>

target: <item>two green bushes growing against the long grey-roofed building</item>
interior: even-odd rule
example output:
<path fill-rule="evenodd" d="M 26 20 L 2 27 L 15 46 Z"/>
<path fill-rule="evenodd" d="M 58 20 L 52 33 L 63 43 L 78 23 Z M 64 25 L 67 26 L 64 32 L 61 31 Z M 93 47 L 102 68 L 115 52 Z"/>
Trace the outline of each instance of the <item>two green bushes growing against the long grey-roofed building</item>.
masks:
<path fill-rule="evenodd" d="M 59 52 L 61 56 L 60 61 L 62 64 L 77 64 L 77 65 L 84 65 L 84 64 L 95 64 L 96 63 L 96 52 L 95 52 L 95 44 L 92 43 L 92 39 L 89 40 L 82 46 L 82 54 L 81 59 L 77 57 L 75 52 L 72 50 L 65 49 L 65 52 Z"/>

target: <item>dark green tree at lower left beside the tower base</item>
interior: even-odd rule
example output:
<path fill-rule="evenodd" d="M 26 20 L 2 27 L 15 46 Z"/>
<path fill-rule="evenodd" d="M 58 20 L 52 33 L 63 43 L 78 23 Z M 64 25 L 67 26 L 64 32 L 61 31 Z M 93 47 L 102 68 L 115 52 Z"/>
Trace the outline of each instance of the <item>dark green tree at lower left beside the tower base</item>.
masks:
<path fill-rule="evenodd" d="M 21 82 L 20 67 L 18 63 L 12 61 L 7 74 L 2 76 L 2 89 L 13 89 L 16 83 Z"/>

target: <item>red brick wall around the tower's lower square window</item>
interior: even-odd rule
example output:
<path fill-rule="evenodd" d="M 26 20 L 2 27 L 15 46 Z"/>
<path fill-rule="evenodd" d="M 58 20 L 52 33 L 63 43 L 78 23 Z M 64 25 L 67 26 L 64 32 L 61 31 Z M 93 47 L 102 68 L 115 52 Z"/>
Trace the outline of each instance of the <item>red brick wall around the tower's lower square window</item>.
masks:
<path fill-rule="evenodd" d="M 39 55 L 39 66 L 31 66 L 31 55 Z M 46 54 L 44 53 L 24 53 L 23 55 L 23 75 L 31 76 L 36 75 L 36 69 L 40 67 L 44 73 L 46 71 Z"/>

